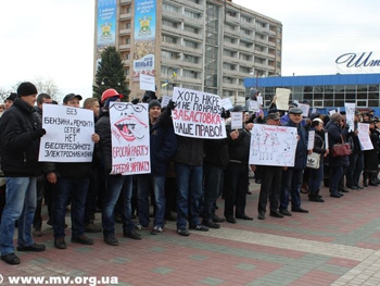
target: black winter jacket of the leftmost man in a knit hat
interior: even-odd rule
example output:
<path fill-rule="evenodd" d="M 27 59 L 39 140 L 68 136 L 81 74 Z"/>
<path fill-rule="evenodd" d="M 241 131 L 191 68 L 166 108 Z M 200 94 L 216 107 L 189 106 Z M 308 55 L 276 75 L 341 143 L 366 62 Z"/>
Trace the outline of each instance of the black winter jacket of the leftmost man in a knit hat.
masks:
<path fill-rule="evenodd" d="M 8 177 L 39 176 L 42 164 L 38 162 L 41 128 L 35 109 L 16 99 L 0 120 L 1 169 Z"/>

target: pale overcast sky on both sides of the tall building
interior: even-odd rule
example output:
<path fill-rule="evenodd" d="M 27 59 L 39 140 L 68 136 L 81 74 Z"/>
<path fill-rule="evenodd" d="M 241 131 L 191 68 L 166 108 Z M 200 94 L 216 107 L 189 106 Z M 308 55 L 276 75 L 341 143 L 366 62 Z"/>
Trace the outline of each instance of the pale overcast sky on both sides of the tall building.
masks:
<path fill-rule="evenodd" d="M 353 73 L 335 64 L 347 52 L 372 51 L 371 59 L 380 59 L 378 0 L 233 2 L 282 23 L 283 76 Z M 43 77 L 63 95 L 91 97 L 93 0 L 1 1 L 0 11 L 1 88 Z"/>

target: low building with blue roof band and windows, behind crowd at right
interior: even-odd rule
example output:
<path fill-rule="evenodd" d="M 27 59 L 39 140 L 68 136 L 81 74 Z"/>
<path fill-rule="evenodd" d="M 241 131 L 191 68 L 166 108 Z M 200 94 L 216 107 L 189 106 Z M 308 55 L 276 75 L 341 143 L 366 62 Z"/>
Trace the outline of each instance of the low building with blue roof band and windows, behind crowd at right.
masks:
<path fill-rule="evenodd" d="M 337 74 L 315 76 L 273 76 L 245 78 L 246 92 L 257 88 L 268 107 L 276 88 L 289 88 L 290 100 L 307 99 L 317 109 L 344 107 L 344 102 L 357 108 L 380 107 L 380 74 Z"/>

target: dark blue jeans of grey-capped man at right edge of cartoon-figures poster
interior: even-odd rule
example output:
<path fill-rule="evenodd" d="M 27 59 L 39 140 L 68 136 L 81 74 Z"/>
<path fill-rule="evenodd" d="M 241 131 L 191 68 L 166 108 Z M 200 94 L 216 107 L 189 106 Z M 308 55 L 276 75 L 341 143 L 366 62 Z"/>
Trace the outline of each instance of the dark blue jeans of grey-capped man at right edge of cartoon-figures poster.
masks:
<path fill-rule="evenodd" d="M 303 170 L 288 167 L 282 172 L 282 188 L 280 194 L 280 210 L 287 210 L 289 195 L 292 198 L 292 209 L 301 208 L 300 188 L 303 181 Z"/>

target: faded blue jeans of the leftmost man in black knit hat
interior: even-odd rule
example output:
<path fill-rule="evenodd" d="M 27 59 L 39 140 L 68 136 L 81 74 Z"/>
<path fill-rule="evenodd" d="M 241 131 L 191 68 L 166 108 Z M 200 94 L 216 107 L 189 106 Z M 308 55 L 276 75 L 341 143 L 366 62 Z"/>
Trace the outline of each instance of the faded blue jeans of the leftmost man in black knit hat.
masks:
<path fill-rule="evenodd" d="M 18 246 L 31 246 L 31 225 L 37 204 L 37 177 L 7 177 L 7 203 L 1 216 L 0 252 L 14 252 L 13 235 L 18 220 Z"/>

